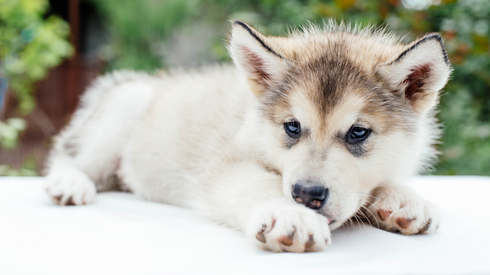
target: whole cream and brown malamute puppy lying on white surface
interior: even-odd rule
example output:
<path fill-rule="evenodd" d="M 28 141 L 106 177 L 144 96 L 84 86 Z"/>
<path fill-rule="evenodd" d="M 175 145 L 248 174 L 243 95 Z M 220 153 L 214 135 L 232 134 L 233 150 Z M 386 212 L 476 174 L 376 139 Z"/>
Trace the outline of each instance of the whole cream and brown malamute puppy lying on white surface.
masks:
<path fill-rule="evenodd" d="M 190 207 L 260 248 L 321 251 L 351 218 L 404 235 L 438 217 L 404 186 L 435 159 L 442 39 L 408 45 L 332 21 L 287 37 L 232 22 L 235 66 L 114 72 L 57 137 L 45 188 L 60 205 L 120 186 Z"/>

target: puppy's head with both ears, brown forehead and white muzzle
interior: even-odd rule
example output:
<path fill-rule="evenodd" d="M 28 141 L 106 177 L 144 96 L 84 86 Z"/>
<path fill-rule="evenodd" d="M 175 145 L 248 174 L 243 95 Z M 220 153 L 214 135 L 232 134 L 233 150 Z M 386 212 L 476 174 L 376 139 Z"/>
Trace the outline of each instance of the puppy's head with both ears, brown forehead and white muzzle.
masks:
<path fill-rule="evenodd" d="M 257 98 L 266 165 L 333 228 L 434 157 L 433 109 L 451 72 L 437 34 L 403 45 L 330 23 L 265 37 L 234 21 L 229 49 Z"/>

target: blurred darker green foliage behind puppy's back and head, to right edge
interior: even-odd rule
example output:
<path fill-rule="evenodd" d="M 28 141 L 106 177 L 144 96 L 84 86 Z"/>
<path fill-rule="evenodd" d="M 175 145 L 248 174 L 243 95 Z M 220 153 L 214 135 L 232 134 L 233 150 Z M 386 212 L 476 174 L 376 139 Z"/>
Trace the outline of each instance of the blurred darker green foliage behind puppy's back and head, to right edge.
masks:
<path fill-rule="evenodd" d="M 490 175 L 490 1 L 442 0 L 437 5 L 410 0 L 91 0 L 103 11 L 117 50 L 114 68 L 153 70 L 165 66 L 158 42 L 183 26 L 210 25 L 226 32 L 230 17 L 252 23 L 265 34 L 282 35 L 307 21 L 387 25 L 410 42 L 442 33 L 454 66 L 440 101 L 445 134 L 435 174 Z M 422 4 L 421 4 L 422 3 Z M 425 7 L 424 7 L 425 3 Z M 415 5 L 419 4 L 419 5 Z M 217 36 L 210 47 L 229 61 Z"/>

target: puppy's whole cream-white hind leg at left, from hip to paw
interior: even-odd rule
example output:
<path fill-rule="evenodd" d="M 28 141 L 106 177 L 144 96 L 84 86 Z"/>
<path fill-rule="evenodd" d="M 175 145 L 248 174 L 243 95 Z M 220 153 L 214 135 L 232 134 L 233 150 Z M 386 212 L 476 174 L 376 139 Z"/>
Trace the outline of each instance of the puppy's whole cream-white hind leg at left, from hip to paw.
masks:
<path fill-rule="evenodd" d="M 84 95 L 48 161 L 44 186 L 56 204 L 89 204 L 113 187 L 120 153 L 153 98 L 144 76 L 105 76 Z"/>

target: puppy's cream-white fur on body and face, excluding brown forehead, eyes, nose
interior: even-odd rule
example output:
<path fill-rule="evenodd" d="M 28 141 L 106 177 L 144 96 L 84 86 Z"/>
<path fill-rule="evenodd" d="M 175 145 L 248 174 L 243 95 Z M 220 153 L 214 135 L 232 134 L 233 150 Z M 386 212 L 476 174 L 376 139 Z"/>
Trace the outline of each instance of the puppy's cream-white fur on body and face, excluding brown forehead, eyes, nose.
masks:
<path fill-rule="evenodd" d="M 308 35 L 320 33 L 312 28 L 304 37 L 292 37 L 304 41 Z M 271 43 L 279 47 L 278 41 Z M 374 41 L 394 43 L 380 32 Z M 239 69 L 214 66 L 163 76 L 116 72 L 100 78 L 56 139 L 46 177 L 48 194 L 58 204 L 80 205 L 92 203 L 95 190 L 120 185 L 145 200 L 197 209 L 276 252 L 326 249 L 330 230 L 360 214 L 364 205 L 362 214 L 386 230 L 399 230 L 398 218 L 416 217 L 401 233 L 414 234 L 425 225 L 430 226 L 425 233 L 435 231 L 433 207 L 401 185 L 434 155 L 429 111 L 414 124 L 415 137 L 379 134 L 370 140 L 376 150 L 366 158 L 355 157 L 334 138 L 353 123 L 376 128 L 369 114 L 359 120 L 362 98 L 346 95 L 323 127 L 311 111 L 315 102 L 304 96 L 302 89 L 307 88 L 297 87 L 291 108 L 275 114 L 283 120 L 274 123 L 264 118 L 257 99 L 290 63 L 241 26 L 233 28 L 230 51 Z M 260 59 L 260 68 L 254 67 L 250 53 Z M 410 54 L 415 55 L 412 61 L 399 66 L 409 68 L 421 58 L 415 51 Z M 259 79 L 258 70 L 270 78 Z M 434 82 L 433 89 L 444 81 Z M 284 149 L 278 140 L 289 118 L 309 127 L 314 142 Z M 324 210 L 312 211 L 292 199 L 292 184 L 305 177 L 321 179 L 329 188 Z M 379 221 L 379 209 L 392 214 Z M 337 222 L 329 227 L 331 219 Z"/>

